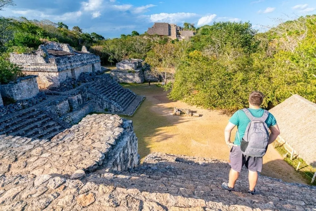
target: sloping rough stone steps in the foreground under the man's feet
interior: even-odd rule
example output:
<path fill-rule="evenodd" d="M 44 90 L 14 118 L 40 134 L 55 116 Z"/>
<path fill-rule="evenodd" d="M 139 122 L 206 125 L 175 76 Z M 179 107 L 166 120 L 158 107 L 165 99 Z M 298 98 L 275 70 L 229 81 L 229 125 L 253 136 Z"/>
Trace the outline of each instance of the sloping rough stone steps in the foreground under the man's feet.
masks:
<path fill-rule="evenodd" d="M 0 177 L 0 210 L 315 210 L 316 188 L 259 176 L 259 195 L 242 171 L 236 191 L 221 188 L 229 165 L 209 158 L 152 153 L 135 169 Z"/>

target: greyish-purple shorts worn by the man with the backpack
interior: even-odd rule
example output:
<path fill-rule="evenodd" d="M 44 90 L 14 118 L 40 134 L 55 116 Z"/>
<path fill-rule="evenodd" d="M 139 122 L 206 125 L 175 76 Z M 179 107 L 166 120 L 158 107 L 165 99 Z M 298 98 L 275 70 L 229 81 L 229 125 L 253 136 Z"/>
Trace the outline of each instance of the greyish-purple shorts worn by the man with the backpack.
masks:
<path fill-rule="evenodd" d="M 262 158 L 243 155 L 240 146 L 233 146 L 230 150 L 229 165 L 240 172 L 243 165 L 250 171 L 262 171 Z"/>

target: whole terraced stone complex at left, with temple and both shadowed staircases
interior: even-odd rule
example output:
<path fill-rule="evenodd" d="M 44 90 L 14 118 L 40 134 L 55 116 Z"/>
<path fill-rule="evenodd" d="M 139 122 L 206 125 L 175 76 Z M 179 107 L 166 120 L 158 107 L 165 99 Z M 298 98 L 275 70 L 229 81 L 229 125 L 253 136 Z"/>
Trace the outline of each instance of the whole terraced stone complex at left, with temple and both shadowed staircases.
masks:
<path fill-rule="evenodd" d="M 49 53 L 45 58 L 40 53 L 44 51 Z M 36 55 L 11 54 L 11 61 L 25 58 L 27 63 L 23 63 L 23 60 L 18 63 L 24 73 L 27 72 L 26 70 L 32 70 L 30 72 L 38 75 L 27 75 L 18 78 L 15 82 L 0 85 L 3 99 L 10 98 L 15 101 L 9 105 L 3 105 L 1 98 L 0 135 L 51 139 L 71 125 L 78 123 L 91 112 L 133 115 L 144 100 L 144 96 L 138 96 L 131 90 L 124 89 L 109 74 L 102 74 L 100 68 L 93 70 L 93 65 L 86 65 L 88 62 L 92 62 L 91 59 L 99 61 L 100 58 L 87 53 L 86 49 L 84 51 L 85 53 L 78 53 L 72 51 L 69 45 L 51 42 L 41 45 L 36 51 Z M 74 55 L 68 55 L 69 52 L 73 52 Z M 47 63 L 44 66 L 54 66 L 56 69 L 47 72 L 47 68 L 41 69 L 37 63 L 39 60 L 30 60 L 32 58 L 44 60 L 48 58 L 45 61 L 48 61 L 49 65 Z M 84 59 L 87 58 L 88 61 L 85 61 Z M 65 63 L 52 65 L 50 62 L 56 61 L 56 59 L 65 61 Z M 79 59 L 81 60 L 79 61 Z M 27 66 L 27 64 L 32 65 Z M 74 74 L 66 74 L 66 80 L 60 83 L 60 75 L 57 75 L 51 79 L 58 81 L 59 85 L 46 84 L 47 89 L 39 90 L 38 84 L 47 79 L 42 73 L 51 74 L 56 71 L 55 73 L 64 75 L 65 72 L 71 71 L 66 66 L 67 68 L 77 66 L 74 68 Z M 98 64 L 95 64 L 94 67 L 98 67 Z M 60 68 L 65 68 L 65 70 Z M 51 87 L 52 85 L 54 86 Z"/>

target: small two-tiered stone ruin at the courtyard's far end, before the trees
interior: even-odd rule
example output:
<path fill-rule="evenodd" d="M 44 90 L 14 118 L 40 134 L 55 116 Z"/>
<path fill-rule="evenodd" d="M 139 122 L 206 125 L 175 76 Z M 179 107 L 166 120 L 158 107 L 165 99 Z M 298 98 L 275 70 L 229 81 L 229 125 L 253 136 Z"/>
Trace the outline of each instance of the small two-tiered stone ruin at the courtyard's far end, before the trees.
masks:
<path fill-rule="evenodd" d="M 125 59 L 116 63 L 116 69 L 110 74 L 119 83 L 137 83 L 144 81 L 160 81 L 160 78 L 152 74 L 150 66 L 142 59 Z"/>

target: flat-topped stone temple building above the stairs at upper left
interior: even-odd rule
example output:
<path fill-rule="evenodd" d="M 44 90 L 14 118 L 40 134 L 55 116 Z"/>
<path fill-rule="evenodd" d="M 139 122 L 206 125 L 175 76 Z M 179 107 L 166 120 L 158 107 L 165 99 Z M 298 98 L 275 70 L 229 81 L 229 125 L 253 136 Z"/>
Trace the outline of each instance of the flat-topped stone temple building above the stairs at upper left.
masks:
<path fill-rule="evenodd" d="M 48 42 L 32 54 L 10 54 L 10 61 L 26 75 L 37 75 L 40 89 L 58 87 L 67 78 L 78 79 L 82 72 L 101 70 L 100 57 L 86 47 L 74 51 L 69 44 Z"/>

